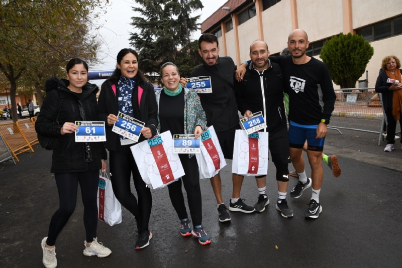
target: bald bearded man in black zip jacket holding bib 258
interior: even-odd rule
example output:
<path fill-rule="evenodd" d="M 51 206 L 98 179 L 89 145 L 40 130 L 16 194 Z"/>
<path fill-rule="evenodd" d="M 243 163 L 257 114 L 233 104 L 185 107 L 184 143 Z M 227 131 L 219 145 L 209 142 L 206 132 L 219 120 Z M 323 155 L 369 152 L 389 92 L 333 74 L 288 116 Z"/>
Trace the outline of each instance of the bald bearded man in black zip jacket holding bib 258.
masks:
<path fill-rule="evenodd" d="M 283 217 L 293 216 L 293 211 L 287 206 L 286 192 L 289 183 L 289 139 L 285 108 L 283 105 L 283 89 L 285 79 L 279 65 L 268 59 L 268 45 L 262 40 L 254 41 L 250 46 L 251 63 L 246 70 L 242 82 L 235 81 L 235 92 L 239 111 L 244 117 L 251 118 L 254 112 L 262 111 L 269 132 L 268 147 L 272 162 L 276 168 L 278 182 L 278 201 L 276 209 Z M 269 200 L 266 193 L 266 175 L 256 176 L 259 191 L 258 202 L 254 205 L 256 211 L 262 212 Z"/>

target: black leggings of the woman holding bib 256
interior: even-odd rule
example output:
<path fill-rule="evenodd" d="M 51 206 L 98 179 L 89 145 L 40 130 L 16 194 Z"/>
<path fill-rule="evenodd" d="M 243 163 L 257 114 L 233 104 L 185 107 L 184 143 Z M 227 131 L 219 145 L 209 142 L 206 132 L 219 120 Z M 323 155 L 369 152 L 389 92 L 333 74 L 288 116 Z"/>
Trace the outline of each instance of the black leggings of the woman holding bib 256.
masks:
<path fill-rule="evenodd" d="M 110 151 L 110 173 L 113 192 L 119 202 L 130 211 L 136 221 L 138 232 L 149 230 L 149 217 L 151 216 L 151 191 L 142 180 L 137 164 L 134 161 L 130 146 L 123 145 L 122 150 Z M 131 192 L 130 179 L 133 174 L 134 186 L 137 190 L 137 199 Z"/>

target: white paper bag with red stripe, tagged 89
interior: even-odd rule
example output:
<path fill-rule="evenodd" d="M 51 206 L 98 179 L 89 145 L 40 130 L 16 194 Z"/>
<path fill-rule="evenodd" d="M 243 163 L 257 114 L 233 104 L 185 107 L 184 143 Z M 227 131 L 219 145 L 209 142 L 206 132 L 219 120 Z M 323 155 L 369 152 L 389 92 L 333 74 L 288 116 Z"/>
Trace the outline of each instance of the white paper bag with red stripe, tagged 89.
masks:
<path fill-rule="evenodd" d="M 211 125 L 204 131 L 200 141 L 201 154 L 195 155 L 198 163 L 199 178 L 210 179 L 226 166 L 225 157 L 214 126 Z"/>

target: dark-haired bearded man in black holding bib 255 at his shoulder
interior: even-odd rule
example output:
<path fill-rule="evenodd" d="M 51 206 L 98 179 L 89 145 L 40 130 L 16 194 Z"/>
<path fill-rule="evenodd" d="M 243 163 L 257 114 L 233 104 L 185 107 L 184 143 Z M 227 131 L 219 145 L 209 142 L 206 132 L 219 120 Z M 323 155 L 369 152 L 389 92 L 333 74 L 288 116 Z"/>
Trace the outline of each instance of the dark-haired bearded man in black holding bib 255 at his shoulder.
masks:
<path fill-rule="evenodd" d="M 212 34 L 203 34 L 198 39 L 198 53 L 204 64 L 191 72 L 191 77 L 211 76 L 212 93 L 198 94 L 205 114 L 207 125 L 214 125 L 219 144 L 226 159 L 233 158 L 236 129 L 239 129 L 239 115 L 233 89 L 236 66 L 230 57 L 219 57 L 218 38 Z M 240 189 L 243 177 L 232 175 L 233 194 L 229 210 L 251 213 L 254 207 L 243 203 Z M 219 221 L 229 221 L 230 215 L 222 200 L 221 177 L 219 173 L 211 178 L 218 203 Z"/>

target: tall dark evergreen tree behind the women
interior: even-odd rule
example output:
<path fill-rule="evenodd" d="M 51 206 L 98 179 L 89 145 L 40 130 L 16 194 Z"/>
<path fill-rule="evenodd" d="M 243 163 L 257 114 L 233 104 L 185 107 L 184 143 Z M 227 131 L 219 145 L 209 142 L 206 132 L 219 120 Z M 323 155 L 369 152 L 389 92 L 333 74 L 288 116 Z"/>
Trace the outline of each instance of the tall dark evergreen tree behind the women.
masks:
<path fill-rule="evenodd" d="M 133 11 L 139 17 L 132 17 L 135 32 L 130 44 L 139 51 L 141 70 L 148 78 L 157 80 L 160 66 L 168 61 L 179 67 L 185 77 L 200 63 L 196 41 L 191 41 L 199 24 L 199 16 L 191 13 L 204 8 L 200 0 L 136 0 Z M 195 46 L 196 45 L 196 46 Z M 195 46 L 195 47 L 194 47 Z"/>

